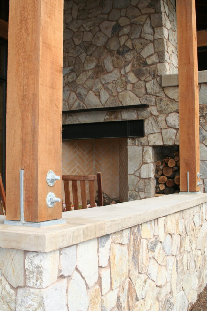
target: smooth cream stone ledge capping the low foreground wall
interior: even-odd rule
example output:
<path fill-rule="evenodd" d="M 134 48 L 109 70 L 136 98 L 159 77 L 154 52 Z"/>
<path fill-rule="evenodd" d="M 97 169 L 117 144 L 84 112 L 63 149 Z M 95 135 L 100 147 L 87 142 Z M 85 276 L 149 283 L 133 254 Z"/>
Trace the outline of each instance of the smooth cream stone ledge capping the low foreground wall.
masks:
<path fill-rule="evenodd" d="M 207 194 L 171 194 L 62 214 L 66 223 L 44 228 L 3 225 L 0 247 L 36 252 L 74 245 L 207 202 Z"/>

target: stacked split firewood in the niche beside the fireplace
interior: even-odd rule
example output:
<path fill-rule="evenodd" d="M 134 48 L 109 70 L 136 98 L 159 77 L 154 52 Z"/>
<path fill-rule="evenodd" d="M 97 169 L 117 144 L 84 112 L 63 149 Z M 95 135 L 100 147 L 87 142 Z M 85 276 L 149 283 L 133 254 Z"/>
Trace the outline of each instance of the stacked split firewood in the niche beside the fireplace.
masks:
<path fill-rule="evenodd" d="M 180 161 L 179 151 L 174 151 L 173 157 L 166 156 L 162 161 L 156 162 L 157 178 L 156 194 L 178 193 L 180 189 Z"/>

